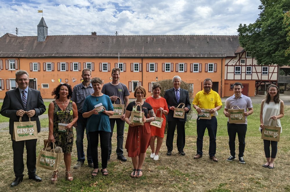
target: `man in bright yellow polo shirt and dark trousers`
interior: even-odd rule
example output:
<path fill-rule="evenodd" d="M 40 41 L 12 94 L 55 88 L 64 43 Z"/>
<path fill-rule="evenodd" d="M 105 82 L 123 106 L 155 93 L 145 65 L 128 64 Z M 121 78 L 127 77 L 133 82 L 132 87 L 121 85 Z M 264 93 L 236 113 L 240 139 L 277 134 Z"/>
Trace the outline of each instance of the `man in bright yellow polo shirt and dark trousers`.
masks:
<path fill-rule="evenodd" d="M 213 82 L 211 79 L 206 78 L 203 81 L 203 90 L 199 91 L 193 99 L 193 108 L 197 111 L 198 114 L 201 114 L 201 109 L 210 109 L 211 119 L 200 119 L 197 117 L 197 154 L 193 157 L 194 159 L 199 159 L 202 157 L 202 144 L 203 136 L 205 129 L 207 128 L 209 132 L 209 158 L 214 162 L 218 162 L 218 159 L 215 157 L 216 152 L 216 134 L 218 128 L 218 122 L 214 114 L 215 112 L 222 108 L 222 100 L 220 95 L 211 89 Z"/>

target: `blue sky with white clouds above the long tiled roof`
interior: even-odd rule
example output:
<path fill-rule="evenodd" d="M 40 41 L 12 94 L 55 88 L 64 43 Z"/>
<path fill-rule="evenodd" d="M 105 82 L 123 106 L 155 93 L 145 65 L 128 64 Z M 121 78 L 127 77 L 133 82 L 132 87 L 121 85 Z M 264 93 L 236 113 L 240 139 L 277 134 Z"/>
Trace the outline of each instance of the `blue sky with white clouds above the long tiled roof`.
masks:
<path fill-rule="evenodd" d="M 48 35 L 238 35 L 259 17 L 258 0 L 0 0 L 0 37 Z"/>

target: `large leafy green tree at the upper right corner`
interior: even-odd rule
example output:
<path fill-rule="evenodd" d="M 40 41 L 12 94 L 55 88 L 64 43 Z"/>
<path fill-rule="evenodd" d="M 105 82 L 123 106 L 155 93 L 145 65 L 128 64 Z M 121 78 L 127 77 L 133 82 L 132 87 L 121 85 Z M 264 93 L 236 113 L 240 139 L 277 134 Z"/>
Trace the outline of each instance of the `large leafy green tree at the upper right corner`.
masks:
<path fill-rule="evenodd" d="M 261 3 L 260 17 L 256 22 L 248 26 L 239 25 L 240 44 L 252 52 L 251 56 L 260 65 L 290 65 L 290 54 L 286 52 L 289 48 L 287 24 L 284 21 L 290 10 L 290 1 L 261 0 Z"/>

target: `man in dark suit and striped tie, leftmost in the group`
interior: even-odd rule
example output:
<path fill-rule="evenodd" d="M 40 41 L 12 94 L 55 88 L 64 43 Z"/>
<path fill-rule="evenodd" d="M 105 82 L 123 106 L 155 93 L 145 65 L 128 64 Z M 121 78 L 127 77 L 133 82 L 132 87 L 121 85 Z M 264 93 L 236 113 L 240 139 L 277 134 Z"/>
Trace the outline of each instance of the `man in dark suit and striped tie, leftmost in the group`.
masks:
<path fill-rule="evenodd" d="M 23 152 L 24 145 L 27 153 L 27 169 L 28 178 L 41 181 L 41 178 L 35 174 L 36 171 L 36 142 L 37 139 L 15 141 L 13 137 L 14 122 L 19 121 L 22 117 L 22 122 L 36 121 L 37 132 L 40 132 L 40 122 L 38 116 L 46 110 L 40 92 L 35 89 L 28 88 L 29 78 L 28 73 L 24 70 L 18 70 L 15 73 L 18 88 L 7 91 L 1 108 L 1 115 L 9 117 L 9 133 L 12 140 L 13 148 L 13 169 L 15 180 L 11 186 L 18 185 L 23 180 Z"/>

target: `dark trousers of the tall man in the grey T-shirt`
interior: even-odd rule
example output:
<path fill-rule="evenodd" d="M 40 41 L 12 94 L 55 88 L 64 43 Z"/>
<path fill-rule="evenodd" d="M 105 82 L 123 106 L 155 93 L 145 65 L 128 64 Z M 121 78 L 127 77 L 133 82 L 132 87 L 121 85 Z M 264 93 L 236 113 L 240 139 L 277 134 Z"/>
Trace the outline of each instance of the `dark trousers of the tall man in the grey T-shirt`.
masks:
<path fill-rule="evenodd" d="M 121 119 L 117 118 L 111 118 L 110 119 L 110 126 L 111 126 L 111 133 L 110 133 L 110 140 L 109 140 L 109 159 L 112 153 L 112 136 L 113 136 L 113 130 L 115 126 L 115 122 L 117 124 L 117 149 L 116 154 L 117 156 L 123 155 L 123 142 L 124 142 L 124 126 L 125 121 L 122 121 Z"/>

